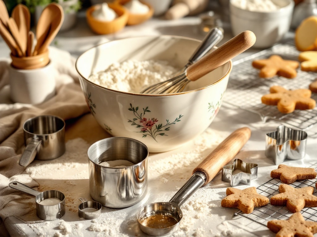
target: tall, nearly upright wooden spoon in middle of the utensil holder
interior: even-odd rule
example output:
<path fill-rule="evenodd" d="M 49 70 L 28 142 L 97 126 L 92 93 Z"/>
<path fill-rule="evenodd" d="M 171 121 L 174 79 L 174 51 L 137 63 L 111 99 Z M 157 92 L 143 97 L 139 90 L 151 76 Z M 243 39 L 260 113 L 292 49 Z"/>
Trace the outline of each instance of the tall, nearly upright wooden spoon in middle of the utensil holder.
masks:
<path fill-rule="evenodd" d="M 16 21 L 20 37 L 25 42 L 25 44 L 21 45 L 21 50 L 22 52 L 24 52 L 23 54 L 25 54 L 31 24 L 31 16 L 29 9 L 23 4 L 18 4 L 13 9 L 11 17 Z"/>

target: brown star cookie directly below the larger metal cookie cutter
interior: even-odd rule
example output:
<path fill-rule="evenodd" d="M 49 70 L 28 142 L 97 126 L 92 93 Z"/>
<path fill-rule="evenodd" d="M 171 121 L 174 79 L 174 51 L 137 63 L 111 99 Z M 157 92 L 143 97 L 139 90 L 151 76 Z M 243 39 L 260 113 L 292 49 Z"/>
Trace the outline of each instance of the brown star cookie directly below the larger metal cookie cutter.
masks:
<path fill-rule="evenodd" d="M 281 179 L 285 184 L 291 184 L 296 180 L 316 178 L 316 171 L 314 168 L 291 167 L 281 164 L 277 169 L 271 171 L 271 177 Z"/>

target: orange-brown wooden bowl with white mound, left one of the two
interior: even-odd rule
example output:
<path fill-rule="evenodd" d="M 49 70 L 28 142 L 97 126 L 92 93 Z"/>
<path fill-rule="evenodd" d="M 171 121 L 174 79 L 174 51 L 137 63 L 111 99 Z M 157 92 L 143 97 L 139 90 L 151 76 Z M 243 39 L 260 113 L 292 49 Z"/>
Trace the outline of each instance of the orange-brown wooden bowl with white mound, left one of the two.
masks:
<path fill-rule="evenodd" d="M 115 3 L 108 3 L 109 8 L 113 9 L 118 17 L 113 21 L 100 21 L 92 16 L 93 11 L 98 7 L 97 5 L 91 6 L 86 11 L 86 20 L 91 28 L 97 34 L 111 34 L 117 32 L 126 26 L 128 21 L 128 11 Z"/>

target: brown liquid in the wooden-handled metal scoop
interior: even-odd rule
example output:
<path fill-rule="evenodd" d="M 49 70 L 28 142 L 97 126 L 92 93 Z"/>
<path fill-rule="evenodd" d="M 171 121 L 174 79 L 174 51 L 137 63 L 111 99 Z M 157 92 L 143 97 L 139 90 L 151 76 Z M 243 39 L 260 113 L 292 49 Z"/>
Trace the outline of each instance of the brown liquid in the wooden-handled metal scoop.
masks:
<path fill-rule="evenodd" d="M 155 229 L 163 229 L 177 224 L 178 220 L 171 214 L 155 213 L 151 216 L 144 216 L 140 222 L 143 226 Z"/>

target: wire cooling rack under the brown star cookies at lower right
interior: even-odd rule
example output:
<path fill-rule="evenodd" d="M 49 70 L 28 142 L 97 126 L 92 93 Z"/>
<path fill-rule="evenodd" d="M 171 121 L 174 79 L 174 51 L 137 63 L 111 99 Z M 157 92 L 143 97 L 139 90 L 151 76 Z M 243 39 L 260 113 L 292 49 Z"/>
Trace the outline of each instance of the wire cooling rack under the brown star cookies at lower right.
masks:
<path fill-rule="evenodd" d="M 316 170 L 317 163 L 310 163 L 311 168 L 314 168 Z M 315 187 L 315 183 L 317 179 L 306 179 L 306 180 L 300 180 L 302 182 L 296 181 L 290 186 L 294 188 L 303 188 L 307 186 Z M 275 194 L 278 194 L 279 191 L 279 185 L 281 184 L 280 179 L 270 179 L 268 182 L 262 184 L 261 186 L 257 187 L 257 193 L 271 198 Z M 314 194 L 316 193 L 316 189 L 314 189 Z M 243 217 L 248 218 L 251 220 L 254 225 L 263 225 L 267 226 L 268 221 L 270 220 L 286 220 L 290 216 L 292 216 L 294 213 L 290 212 L 287 207 L 285 206 L 273 206 L 271 204 L 267 204 L 262 207 L 257 207 L 254 209 L 254 211 L 250 214 L 244 214 L 242 211 L 237 211 L 235 213 L 236 215 L 240 215 Z M 313 221 L 317 222 L 317 207 L 306 207 L 301 210 L 301 214 L 304 217 L 306 221 Z M 250 226 L 251 227 L 251 226 Z M 253 229 L 256 229 L 256 226 Z"/>

